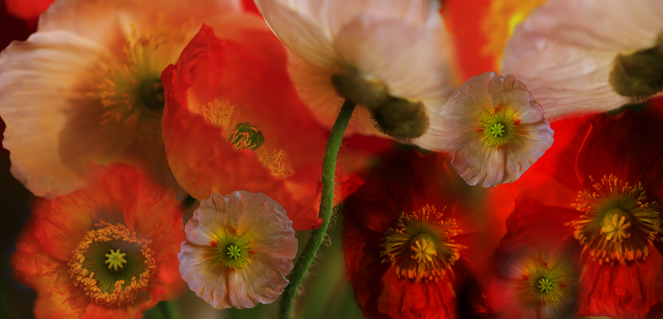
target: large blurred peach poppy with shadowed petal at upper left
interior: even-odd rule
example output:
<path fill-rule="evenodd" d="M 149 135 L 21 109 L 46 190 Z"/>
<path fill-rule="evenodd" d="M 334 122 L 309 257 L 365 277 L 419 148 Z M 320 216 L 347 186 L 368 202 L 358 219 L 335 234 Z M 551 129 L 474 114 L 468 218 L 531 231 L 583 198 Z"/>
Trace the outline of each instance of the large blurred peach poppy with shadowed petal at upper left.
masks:
<path fill-rule="evenodd" d="M 265 29 L 234 0 L 62 0 L 0 54 L 11 172 L 37 196 L 85 184 L 80 168 L 128 162 L 176 185 L 164 155 L 160 73 L 206 21 Z M 38 154 L 39 156 L 35 156 Z"/>

